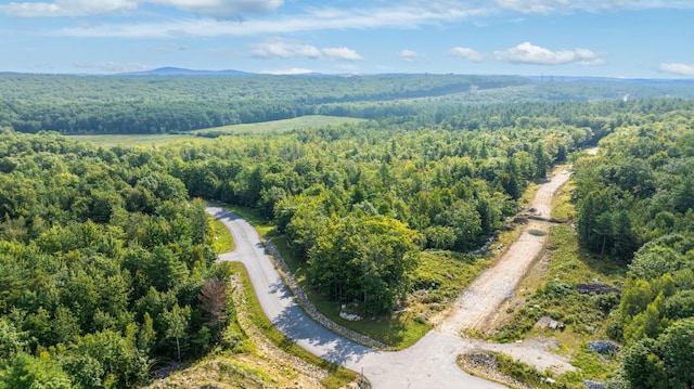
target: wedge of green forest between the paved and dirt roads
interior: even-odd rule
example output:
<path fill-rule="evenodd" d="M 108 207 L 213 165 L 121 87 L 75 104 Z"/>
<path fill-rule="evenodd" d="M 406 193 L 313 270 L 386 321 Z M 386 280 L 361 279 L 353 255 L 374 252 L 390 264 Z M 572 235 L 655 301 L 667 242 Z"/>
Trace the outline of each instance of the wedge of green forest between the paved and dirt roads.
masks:
<path fill-rule="evenodd" d="M 220 138 L 169 148 L 167 159 L 191 196 L 253 207 L 274 220 L 329 298 L 357 301 L 364 313 L 388 313 L 409 290 L 417 248 L 479 248 L 517 211 L 528 183 L 544 178 L 568 153 L 648 120 L 650 112 L 677 115 L 691 105 L 494 105 L 490 117 L 501 119 L 493 126 L 491 119 L 480 121 L 474 131 L 462 114 L 446 112 L 437 122 L 436 113 L 428 113 L 396 124 L 386 117 Z M 390 235 L 409 244 L 396 247 Z"/>

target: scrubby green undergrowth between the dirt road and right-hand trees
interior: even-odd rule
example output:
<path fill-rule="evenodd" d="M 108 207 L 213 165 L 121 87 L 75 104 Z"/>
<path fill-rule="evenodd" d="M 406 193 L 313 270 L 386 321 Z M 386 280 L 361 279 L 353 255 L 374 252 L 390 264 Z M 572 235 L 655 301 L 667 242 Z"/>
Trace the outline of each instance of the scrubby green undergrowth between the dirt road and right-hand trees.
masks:
<path fill-rule="evenodd" d="M 557 207 L 562 209 L 560 215 L 556 215 L 558 219 L 571 215 L 567 203 L 568 195 L 564 193 L 558 198 Z M 603 381 L 614 379 L 618 362 L 590 351 L 587 345 L 608 338 L 608 315 L 618 307 L 619 296 L 581 295 L 576 286 L 581 283 L 605 284 L 619 289 L 626 268 L 609 258 L 597 258 L 582 250 L 570 223 L 550 229 L 547 250 L 551 258 L 547 273 L 537 284 L 524 285 L 535 291 L 526 298 L 522 308 L 515 309 L 513 319 L 501 326 L 492 339 L 507 342 L 534 336 L 554 337 L 558 352 L 569 355 L 571 364 L 579 367 L 577 372 L 554 377 L 557 382 L 561 380 L 562 385 L 568 388 L 581 387 L 586 378 Z M 543 316 L 549 316 L 563 326 L 560 325 L 560 329 L 556 330 L 536 326 Z M 531 379 L 535 373 L 528 373 L 526 368 L 530 367 L 522 368 L 520 365 L 519 362 L 509 363 L 506 368 L 516 369 L 514 374 L 517 376 L 527 375 L 526 378 Z M 534 380 L 517 379 L 536 385 Z M 544 387 L 545 384 L 537 385 Z"/>

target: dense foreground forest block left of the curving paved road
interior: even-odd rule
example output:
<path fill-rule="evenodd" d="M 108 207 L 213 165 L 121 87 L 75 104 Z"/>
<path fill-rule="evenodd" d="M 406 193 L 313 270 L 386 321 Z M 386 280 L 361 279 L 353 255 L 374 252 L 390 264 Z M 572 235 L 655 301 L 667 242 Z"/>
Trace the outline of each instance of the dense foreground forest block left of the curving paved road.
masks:
<path fill-rule="evenodd" d="M 205 204 L 166 167 L 0 133 L 0 388 L 130 388 L 220 341 Z"/>

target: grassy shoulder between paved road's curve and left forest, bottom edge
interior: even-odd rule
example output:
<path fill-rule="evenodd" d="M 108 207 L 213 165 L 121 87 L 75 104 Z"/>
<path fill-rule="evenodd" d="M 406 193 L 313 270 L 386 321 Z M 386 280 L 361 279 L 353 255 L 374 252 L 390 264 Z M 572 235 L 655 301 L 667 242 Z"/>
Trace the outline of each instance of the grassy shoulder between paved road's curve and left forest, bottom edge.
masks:
<path fill-rule="evenodd" d="M 284 337 L 265 316 L 245 268 L 224 262 L 232 276 L 233 320 L 205 358 L 153 381 L 154 388 L 340 388 L 359 375 L 322 361 Z M 300 364 L 297 359 L 300 359 Z M 313 365 L 316 367 L 307 367 Z M 317 368 L 318 367 L 318 368 Z M 307 373 L 312 372 L 312 373 Z M 323 373 L 326 372 L 326 373 Z"/>

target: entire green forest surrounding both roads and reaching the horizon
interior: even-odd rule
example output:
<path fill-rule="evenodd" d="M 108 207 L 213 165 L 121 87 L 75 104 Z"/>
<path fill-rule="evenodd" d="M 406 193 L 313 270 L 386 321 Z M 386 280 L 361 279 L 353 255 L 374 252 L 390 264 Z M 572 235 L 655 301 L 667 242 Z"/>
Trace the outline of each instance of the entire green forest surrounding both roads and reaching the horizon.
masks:
<path fill-rule="evenodd" d="M 422 252 L 479 249 L 529 185 L 569 160 L 582 249 L 628 269 L 606 314 L 626 380 L 694 385 L 691 91 L 283 80 L 0 75 L 0 388 L 137 387 L 156 361 L 233 349 L 208 200 L 271 220 L 325 298 L 388 315 L 420 288 Z M 307 113 L 370 120 L 146 148 L 62 135 Z M 571 157 L 595 145 L 597 156 Z"/>

